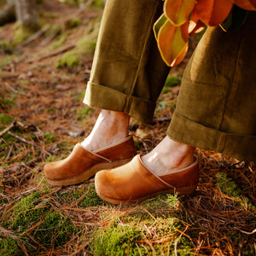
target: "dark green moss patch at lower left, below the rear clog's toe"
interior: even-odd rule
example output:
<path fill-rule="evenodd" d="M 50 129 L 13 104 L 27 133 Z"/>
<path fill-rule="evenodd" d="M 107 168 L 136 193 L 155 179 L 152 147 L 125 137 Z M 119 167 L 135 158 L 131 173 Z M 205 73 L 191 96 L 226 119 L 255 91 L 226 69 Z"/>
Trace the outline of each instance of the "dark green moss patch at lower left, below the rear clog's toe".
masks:
<path fill-rule="evenodd" d="M 39 225 L 32 228 L 36 224 Z M 47 248 L 59 247 L 67 243 L 76 231 L 71 220 L 62 216 L 60 212 L 52 210 L 49 201 L 44 202 L 44 197 L 39 192 L 27 195 L 16 203 L 5 216 L 3 226 L 9 230 L 19 230 L 19 232 L 32 229 L 33 240 L 27 238 L 26 233 L 20 236 L 20 239 L 25 237 L 26 240 L 28 239 L 32 246 L 27 250 L 33 255 L 38 255 L 40 249 L 36 241 Z M 8 247 L 4 242 L 0 246 Z"/>

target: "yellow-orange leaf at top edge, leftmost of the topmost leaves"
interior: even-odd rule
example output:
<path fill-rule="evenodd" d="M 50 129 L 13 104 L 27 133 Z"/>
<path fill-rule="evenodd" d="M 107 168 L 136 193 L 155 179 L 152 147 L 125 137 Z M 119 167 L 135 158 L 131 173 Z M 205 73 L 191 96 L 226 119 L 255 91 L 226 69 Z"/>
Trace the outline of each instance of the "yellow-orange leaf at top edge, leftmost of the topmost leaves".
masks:
<path fill-rule="evenodd" d="M 183 25 L 195 7 L 195 0 L 166 0 L 164 14 L 175 26 Z"/>

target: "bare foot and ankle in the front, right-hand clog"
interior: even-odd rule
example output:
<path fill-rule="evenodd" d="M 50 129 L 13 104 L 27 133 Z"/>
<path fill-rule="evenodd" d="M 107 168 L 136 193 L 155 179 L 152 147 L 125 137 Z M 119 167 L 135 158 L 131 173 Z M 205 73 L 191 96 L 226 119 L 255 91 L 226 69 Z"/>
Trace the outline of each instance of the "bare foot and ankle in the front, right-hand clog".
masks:
<path fill-rule="evenodd" d="M 189 166 L 194 161 L 194 152 L 194 147 L 166 136 L 151 152 L 143 155 L 142 160 L 151 172 L 163 176 Z"/>

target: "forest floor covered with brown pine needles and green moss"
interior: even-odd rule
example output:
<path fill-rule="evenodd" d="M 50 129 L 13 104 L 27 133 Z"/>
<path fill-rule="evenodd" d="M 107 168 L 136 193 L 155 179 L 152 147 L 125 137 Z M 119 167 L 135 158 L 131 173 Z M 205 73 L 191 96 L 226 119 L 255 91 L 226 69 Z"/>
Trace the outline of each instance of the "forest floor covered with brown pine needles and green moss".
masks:
<path fill-rule="evenodd" d="M 131 206 L 102 201 L 93 178 L 70 187 L 47 183 L 44 164 L 65 158 L 99 113 L 82 101 L 101 15 L 44 0 L 47 29 L 15 49 L 9 47 L 15 23 L 0 27 L 0 255 L 255 255 L 253 163 L 197 149 L 195 195 Z M 83 52 L 76 44 L 86 36 L 90 50 Z M 154 124 L 131 119 L 139 153 L 165 137 L 187 61 L 172 69 Z"/>

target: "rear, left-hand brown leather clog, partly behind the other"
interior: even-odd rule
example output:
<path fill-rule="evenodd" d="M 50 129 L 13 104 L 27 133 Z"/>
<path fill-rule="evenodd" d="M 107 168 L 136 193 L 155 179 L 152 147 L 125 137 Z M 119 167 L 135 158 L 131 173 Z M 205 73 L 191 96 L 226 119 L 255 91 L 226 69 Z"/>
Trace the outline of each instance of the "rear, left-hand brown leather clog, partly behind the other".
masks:
<path fill-rule="evenodd" d="M 46 164 L 44 166 L 44 175 L 48 182 L 52 184 L 69 185 L 80 183 L 84 181 L 84 177 L 88 176 L 84 172 L 93 170 L 91 173 L 94 175 L 94 172 L 101 170 L 101 166 L 103 168 L 104 166 L 112 168 L 119 166 L 119 163 L 125 164 L 136 154 L 137 149 L 132 136 L 95 152 L 84 149 L 78 143 L 66 159 Z M 83 178 L 78 178 L 82 174 Z"/>

